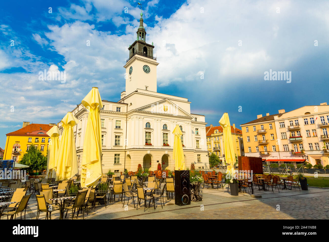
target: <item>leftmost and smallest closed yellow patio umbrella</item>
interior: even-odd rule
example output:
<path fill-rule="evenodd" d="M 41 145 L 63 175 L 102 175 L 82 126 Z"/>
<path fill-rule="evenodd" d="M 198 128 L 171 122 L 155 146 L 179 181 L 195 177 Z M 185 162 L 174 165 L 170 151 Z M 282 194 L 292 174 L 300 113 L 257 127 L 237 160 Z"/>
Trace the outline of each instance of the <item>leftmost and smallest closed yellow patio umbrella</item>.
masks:
<path fill-rule="evenodd" d="M 56 177 L 56 168 L 55 165 L 55 157 L 58 152 L 58 148 L 60 146 L 60 130 L 57 125 L 54 125 L 49 131 L 47 135 L 50 137 L 50 142 L 48 146 L 48 155 L 47 155 L 47 175 L 46 178 L 55 178 Z"/>

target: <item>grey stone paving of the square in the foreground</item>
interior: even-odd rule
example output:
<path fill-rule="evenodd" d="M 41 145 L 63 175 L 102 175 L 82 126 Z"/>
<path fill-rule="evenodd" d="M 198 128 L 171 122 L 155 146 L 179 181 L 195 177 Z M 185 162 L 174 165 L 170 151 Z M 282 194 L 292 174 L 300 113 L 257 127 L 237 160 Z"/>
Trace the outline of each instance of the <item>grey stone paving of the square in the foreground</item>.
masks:
<path fill-rule="evenodd" d="M 260 192 L 261 199 L 239 193 L 231 196 L 227 189 L 202 189 L 203 201 L 192 202 L 187 206 L 176 206 L 174 200 L 165 201 L 161 208 L 160 201 L 156 202 L 156 209 L 151 206 L 140 207 L 138 210 L 129 201 L 123 207 L 120 201 L 114 202 L 105 208 L 96 206 L 96 210 L 85 212 L 85 219 L 328 219 L 329 218 L 329 189 L 309 188 L 308 191 L 276 190 Z M 164 200 L 166 200 L 164 198 Z M 136 199 L 135 199 L 135 203 Z M 111 204 L 111 203 L 110 203 Z M 126 203 L 127 204 L 127 201 Z M 26 219 L 36 219 L 37 204 L 35 198 L 29 201 Z M 67 218 L 71 218 L 68 213 Z M 76 217 L 76 216 L 75 216 Z M 20 216 L 17 217 L 19 219 Z M 44 219 L 41 213 L 39 219 Z M 1 219 L 5 219 L 2 217 Z M 58 211 L 52 214 L 52 219 L 59 219 Z M 82 219 L 79 215 L 78 219 Z"/>

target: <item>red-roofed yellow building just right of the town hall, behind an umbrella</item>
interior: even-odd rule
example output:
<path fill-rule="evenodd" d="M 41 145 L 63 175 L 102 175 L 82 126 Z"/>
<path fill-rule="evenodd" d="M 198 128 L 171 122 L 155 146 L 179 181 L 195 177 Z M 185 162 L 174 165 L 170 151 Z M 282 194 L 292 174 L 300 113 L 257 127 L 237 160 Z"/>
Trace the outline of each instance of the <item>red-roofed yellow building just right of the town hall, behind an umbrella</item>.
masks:
<path fill-rule="evenodd" d="M 231 126 L 232 140 L 235 141 L 235 153 L 237 156 L 244 155 L 243 151 L 243 140 L 242 131 L 238 128 Z M 209 155 L 214 152 L 221 161 L 225 161 L 224 146 L 225 142 L 223 138 L 223 128 L 221 126 L 210 126 L 206 127 L 206 138 L 207 138 L 207 149 Z"/>

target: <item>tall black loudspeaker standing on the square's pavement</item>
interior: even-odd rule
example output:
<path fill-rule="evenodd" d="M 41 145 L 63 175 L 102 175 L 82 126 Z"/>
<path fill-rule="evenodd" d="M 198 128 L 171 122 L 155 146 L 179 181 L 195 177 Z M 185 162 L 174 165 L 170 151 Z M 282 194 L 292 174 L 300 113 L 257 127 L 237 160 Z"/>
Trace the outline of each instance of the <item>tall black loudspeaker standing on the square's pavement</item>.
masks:
<path fill-rule="evenodd" d="M 175 170 L 175 204 L 179 206 L 191 204 L 190 171 Z"/>

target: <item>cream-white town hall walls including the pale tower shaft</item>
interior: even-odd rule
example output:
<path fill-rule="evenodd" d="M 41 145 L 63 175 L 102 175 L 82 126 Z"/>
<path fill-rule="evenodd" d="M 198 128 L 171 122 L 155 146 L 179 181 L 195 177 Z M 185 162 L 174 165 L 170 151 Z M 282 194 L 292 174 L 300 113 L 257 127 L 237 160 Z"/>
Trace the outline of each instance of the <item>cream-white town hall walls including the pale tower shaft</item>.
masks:
<path fill-rule="evenodd" d="M 150 71 L 144 68 L 145 65 Z M 123 172 L 124 169 L 135 172 L 138 164 L 154 171 L 159 163 L 163 169 L 174 170 L 172 132 L 176 124 L 183 132 L 186 167 L 190 169 L 191 163 L 209 164 L 205 116 L 191 114 L 187 98 L 156 92 L 157 66 L 153 58 L 135 54 L 124 66 L 126 91 L 121 93 L 121 99 L 118 102 L 102 101 L 103 173 L 109 169 L 112 172 Z M 130 67 L 133 67 L 131 73 Z M 102 90 L 99 91 L 102 95 Z M 88 111 L 80 103 L 72 113 L 80 120 L 74 129 L 80 163 Z M 164 143 L 169 146 L 164 146 Z M 81 173 L 81 164 L 78 166 Z"/>

